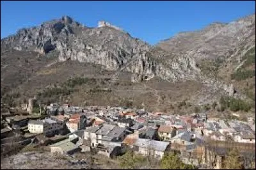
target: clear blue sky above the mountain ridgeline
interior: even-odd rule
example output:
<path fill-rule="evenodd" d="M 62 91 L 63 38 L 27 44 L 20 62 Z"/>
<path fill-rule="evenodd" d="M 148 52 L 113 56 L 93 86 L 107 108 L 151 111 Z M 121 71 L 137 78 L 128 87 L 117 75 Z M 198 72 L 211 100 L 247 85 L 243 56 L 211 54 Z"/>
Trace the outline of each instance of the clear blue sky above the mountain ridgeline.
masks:
<path fill-rule="evenodd" d="M 255 1 L 1 1 L 1 38 L 68 15 L 85 26 L 106 20 L 150 44 L 255 13 Z"/>

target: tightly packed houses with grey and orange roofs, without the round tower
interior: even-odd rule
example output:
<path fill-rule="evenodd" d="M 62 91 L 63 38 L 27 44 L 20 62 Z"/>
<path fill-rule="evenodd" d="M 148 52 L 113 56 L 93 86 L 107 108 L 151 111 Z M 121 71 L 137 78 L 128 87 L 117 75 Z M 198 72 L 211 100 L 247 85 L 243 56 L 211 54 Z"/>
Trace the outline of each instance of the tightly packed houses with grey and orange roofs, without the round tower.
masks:
<path fill-rule="evenodd" d="M 205 141 L 255 144 L 255 121 L 224 121 L 207 114 L 185 116 L 147 112 L 124 107 L 47 106 L 47 118 L 29 120 L 31 134 L 66 138 L 49 145 L 51 152 L 72 154 L 97 150 L 115 157 L 127 150 L 144 156 L 163 158 L 166 151 L 177 151 L 186 164 L 206 164 Z M 204 159 L 205 158 L 205 159 Z M 218 166 L 215 167 L 220 167 Z"/>

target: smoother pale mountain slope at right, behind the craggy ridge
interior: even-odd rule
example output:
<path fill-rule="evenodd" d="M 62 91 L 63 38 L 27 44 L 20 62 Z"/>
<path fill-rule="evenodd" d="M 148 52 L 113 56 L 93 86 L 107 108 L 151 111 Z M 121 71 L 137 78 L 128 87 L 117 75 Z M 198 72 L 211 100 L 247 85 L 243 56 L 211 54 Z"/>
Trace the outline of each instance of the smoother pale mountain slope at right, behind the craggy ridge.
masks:
<path fill-rule="evenodd" d="M 247 78 L 250 78 L 250 90 L 255 91 L 255 14 L 228 24 L 213 23 L 200 31 L 179 33 L 159 42 L 157 47 L 177 56 L 194 58 L 207 77 L 232 83 L 237 90 L 244 92 L 239 84 L 244 84 L 243 81 L 248 84 Z M 247 64 L 252 68 L 250 77 L 244 75 L 242 81 L 232 79 L 244 63 L 250 63 Z"/>

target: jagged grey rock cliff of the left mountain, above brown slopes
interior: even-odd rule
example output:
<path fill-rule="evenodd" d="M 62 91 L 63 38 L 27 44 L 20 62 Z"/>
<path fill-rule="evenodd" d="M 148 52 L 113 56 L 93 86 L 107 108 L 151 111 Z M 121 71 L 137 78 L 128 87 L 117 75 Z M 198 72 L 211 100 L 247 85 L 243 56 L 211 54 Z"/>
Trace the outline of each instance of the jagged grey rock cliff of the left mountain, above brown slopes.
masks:
<path fill-rule="evenodd" d="M 168 81 L 186 80 L 187 72 L 195 77 L 195 61 L 179 58 L 167 68 L 155 61 L 150 45 L 111 27 L 89 28 L 70 19 L 45 22 L 38 27 L 21 29 L 16 35 L 1 40 L 1 45 L 16 50 L 33 50 L 42 54 L 57 54 L 59 61 L 67 59 L 99 64 L 106 70 L 124 69 L 134 73 L 132 81 L 154 76 Z M 188 65 L 192 65 L 188 68 Z"/>

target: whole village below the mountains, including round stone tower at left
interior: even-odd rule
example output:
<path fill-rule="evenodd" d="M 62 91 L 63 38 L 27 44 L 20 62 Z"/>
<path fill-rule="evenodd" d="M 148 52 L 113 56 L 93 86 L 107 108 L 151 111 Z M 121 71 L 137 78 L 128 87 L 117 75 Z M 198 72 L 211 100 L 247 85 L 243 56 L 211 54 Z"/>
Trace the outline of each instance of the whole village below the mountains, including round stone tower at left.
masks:
<path fill-rule="evenodd" d="M 127 107 L 35 105 L 30 98 L 24 113 L 1 113 L 1 152 L 15 144 L 40 145 L 63 155 L 96 151 L 115 158 L 132 150 L 161 160 L 164 153 L 176 151 L 184 164 L 221 169 L 228 149 L 237 147 L 244 167 L 255 167 L 252 117 L 220 120 L 208 118 L 207 112 L 179 116 Z"/>

